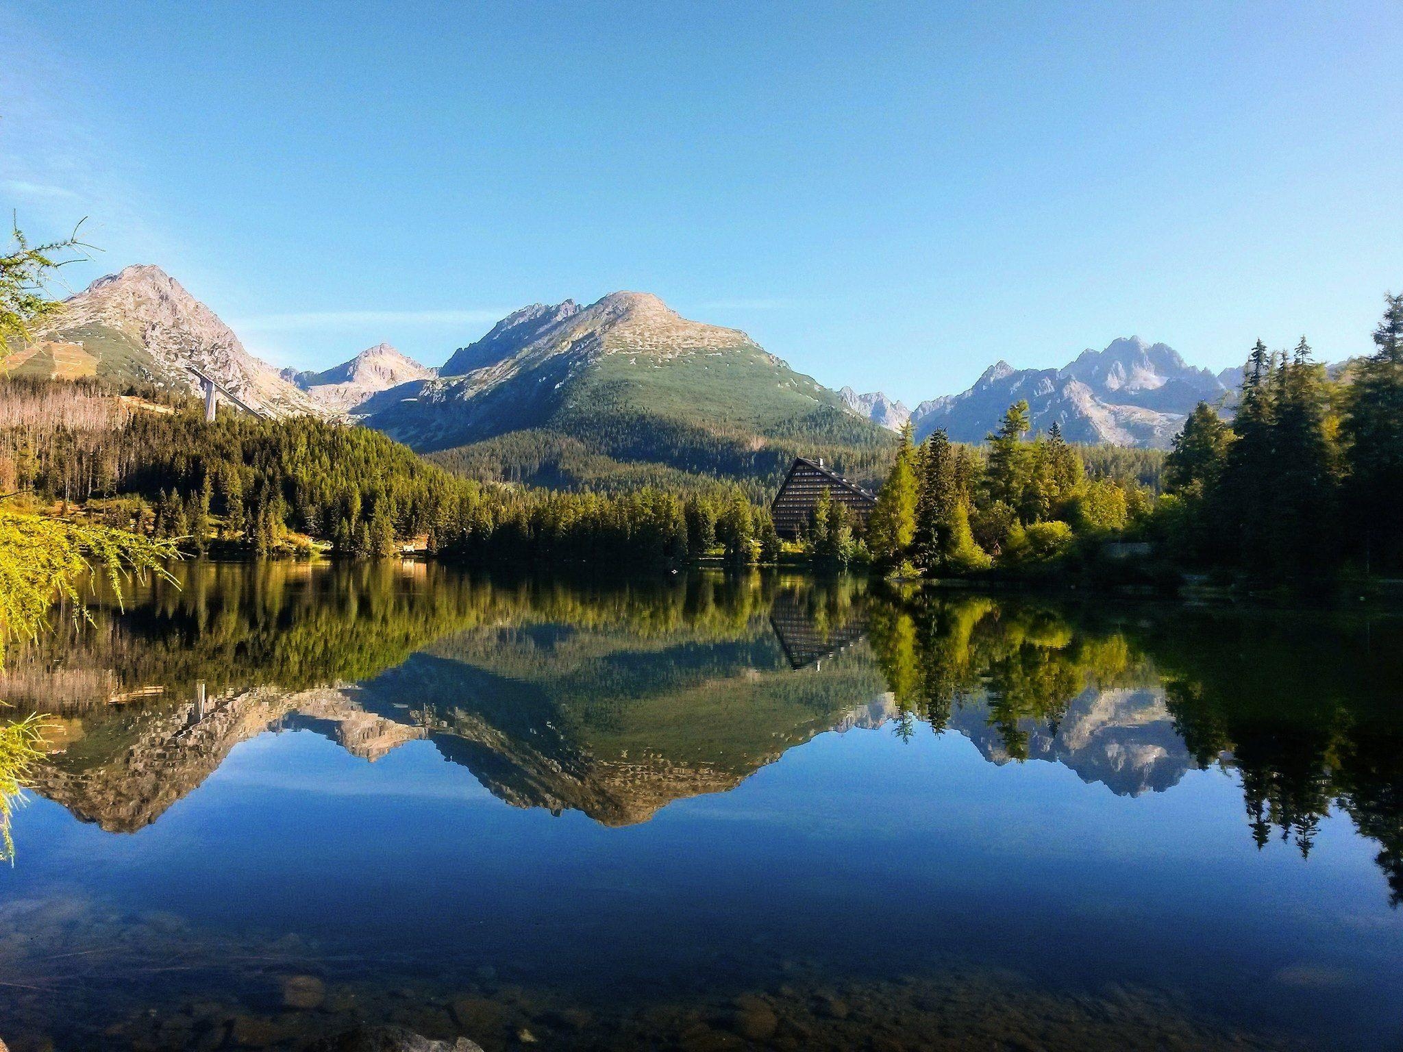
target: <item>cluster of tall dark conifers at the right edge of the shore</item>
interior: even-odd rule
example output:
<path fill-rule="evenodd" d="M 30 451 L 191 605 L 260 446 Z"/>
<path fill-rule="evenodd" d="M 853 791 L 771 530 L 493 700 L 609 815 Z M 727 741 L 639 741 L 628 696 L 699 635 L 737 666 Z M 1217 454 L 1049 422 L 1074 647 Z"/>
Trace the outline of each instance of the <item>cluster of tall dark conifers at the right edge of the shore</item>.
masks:
<path fill-rule="evenodd" d="M 1200 405 L 1176 440 L 1167 461 L 1176 499 L 1157 505 L 1150 533 L 1181 564 L 1251 584 L 1329 576 L 1351 557 L 1365 568 L 1381 555 L 1399 565 L 1396 544 L 1376 543 L 1403 539 L 1399 334 L 1403 309 L 1389 297 L 1379 352 L 1344 380 L 1312 360 L 1303 337 L 1289 353 L 1257 341 L 1232 428 Z"/>

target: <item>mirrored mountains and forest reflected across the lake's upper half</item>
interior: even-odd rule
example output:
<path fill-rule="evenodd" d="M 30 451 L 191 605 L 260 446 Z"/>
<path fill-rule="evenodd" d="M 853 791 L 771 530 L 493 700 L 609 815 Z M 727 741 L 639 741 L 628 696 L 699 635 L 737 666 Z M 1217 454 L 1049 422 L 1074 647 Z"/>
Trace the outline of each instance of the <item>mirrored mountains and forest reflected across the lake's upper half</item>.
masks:
<path fill-rule="evenodd" d="M 125 613 L 98 602 L 90 626 L 0 673 L 17 713 L 51 717 L 34 793 L 107 833 L 161 826 L 269 732 L 369 762 L 432 748 L 515 808 L 626 828 L 728 794 L 828 731 L 884 728 L 908 746 L 958 735 L 993 764 L 1058 764 L 1086 801 L 1188 801 L 1186 777 L 1219 769 L 1244 840 L 1308 858 L 1331 812 L 1347 815 L 1379 898 L 1403 896 L 1396 619 L 901 598 L 773 575 L 591 585 L 191 564 L 180 578 L 140 586 Z M 42 843 L 25 815 L 15 832 L 22 871 Z M 0 971 L 3 933 L 0 917 Z"/>

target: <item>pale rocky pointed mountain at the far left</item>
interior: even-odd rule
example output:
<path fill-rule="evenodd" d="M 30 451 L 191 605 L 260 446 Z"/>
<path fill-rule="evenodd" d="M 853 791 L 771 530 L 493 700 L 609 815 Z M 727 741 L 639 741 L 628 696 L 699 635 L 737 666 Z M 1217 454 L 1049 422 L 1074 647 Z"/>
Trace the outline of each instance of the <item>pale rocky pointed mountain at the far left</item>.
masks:
<path fill-rule="evenodd" d="M 13 375 L 97 376 L 194 391 L 194 365 L 241 400 L 275 415 L 320 407 L 160 267 L 128 267 L 98 278 L 6 362 Z"/>

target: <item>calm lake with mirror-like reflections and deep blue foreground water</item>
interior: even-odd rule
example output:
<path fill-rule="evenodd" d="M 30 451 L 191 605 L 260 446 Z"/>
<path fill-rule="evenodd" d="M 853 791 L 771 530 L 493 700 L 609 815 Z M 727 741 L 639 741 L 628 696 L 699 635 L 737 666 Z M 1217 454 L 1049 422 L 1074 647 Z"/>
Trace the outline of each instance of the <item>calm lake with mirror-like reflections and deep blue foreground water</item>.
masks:
<path fill-rule="evenodd" d="M 180 575 L 0 675 L 14 1052 L 1403 1041 L 1399 619 Z"/>

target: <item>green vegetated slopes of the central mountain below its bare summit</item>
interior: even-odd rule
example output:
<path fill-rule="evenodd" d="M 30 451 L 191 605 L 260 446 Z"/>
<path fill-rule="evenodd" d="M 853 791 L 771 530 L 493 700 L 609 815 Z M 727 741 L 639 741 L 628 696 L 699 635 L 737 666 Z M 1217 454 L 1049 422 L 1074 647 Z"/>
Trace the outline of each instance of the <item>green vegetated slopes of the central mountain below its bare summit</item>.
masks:
<path fill-rule="evenodd" d="M 535 394 L 549 389 L 544 401 Z M 796 456 L 824 457 L 859 484 L 885 476 L 890 432 L 832 391 L 749 345 L 652 359 L 610 353 L 577 372 L 526 370 L 464 403 L 449 438 L 377 419 L 442 467 L 484 483 L 620 492 L 739 483 L 759 504 Z M 505 432 L 499 421 L 512 421 Z"/>

